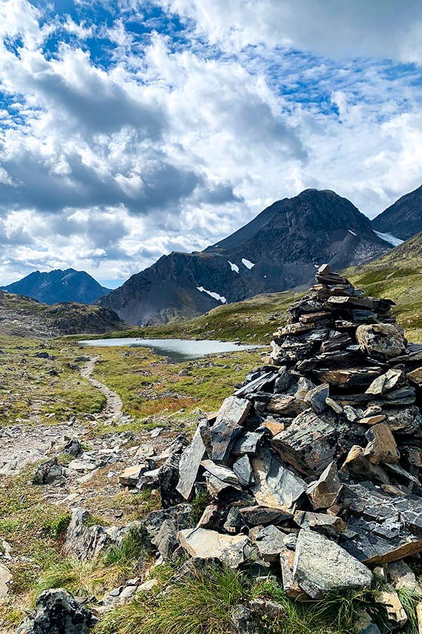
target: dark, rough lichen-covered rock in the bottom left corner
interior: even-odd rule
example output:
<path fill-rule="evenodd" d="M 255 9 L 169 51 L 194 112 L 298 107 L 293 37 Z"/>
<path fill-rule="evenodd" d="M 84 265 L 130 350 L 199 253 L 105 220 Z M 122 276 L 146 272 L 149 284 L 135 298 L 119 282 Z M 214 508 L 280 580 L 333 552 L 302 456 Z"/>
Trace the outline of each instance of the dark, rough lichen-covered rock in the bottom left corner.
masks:
<path fill-rule="evenodd" d="M 66 590 L 44 590 L 35 609 L 23 619 L 15 634 L 89 634 L 96 616 Z"/>

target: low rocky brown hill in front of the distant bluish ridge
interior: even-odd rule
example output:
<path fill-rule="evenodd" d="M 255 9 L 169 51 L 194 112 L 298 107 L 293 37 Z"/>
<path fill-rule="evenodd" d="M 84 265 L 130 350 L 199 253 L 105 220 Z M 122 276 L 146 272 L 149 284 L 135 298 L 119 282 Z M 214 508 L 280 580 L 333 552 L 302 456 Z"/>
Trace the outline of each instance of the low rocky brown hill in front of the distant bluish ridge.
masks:
<path fill-rule="evenodd" d="M 99 335 L 125 328 L 127 324 L 116 313 L 102 306 L 76 302 L 49 306 L 32 297 L 0 290 L 0 335 Z"/>

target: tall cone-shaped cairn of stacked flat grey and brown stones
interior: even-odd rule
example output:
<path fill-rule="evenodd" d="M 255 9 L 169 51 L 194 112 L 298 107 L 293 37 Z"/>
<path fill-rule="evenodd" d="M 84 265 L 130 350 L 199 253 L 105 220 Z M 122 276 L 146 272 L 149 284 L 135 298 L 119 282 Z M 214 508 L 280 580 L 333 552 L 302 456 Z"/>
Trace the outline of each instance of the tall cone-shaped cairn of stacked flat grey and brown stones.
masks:
<path fill-rule="evenodd" d="M 281 566 L 290 597 L 369 588 L 374 566 L 418 590 L 402 559 L 422 550 L 422 347 L 393 302 L 362 295 L 321 267 L 262 367 L 199 423 L 177 483 L 181 501 L 212 499 L 177 532 L 191 556 Z M 401 626 L 386 588 L 378 599 Z"/>

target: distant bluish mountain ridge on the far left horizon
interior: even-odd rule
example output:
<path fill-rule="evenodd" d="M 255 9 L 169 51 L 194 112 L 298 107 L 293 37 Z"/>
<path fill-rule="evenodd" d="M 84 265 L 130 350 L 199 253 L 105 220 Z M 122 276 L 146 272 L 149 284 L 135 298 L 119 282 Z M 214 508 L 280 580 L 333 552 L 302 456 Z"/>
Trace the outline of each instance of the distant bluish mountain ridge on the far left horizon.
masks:
<path fill-rule="evenodd" d="M 50 273 L 34 271 L 22 280 L 8 286 L 1 286 L 0 289 L 33 297 L 44 304 L 57 302 L 91 304 L 94 299 L 110 292 L 110 289 L 98 284 L 91 275 L 85 271 L 75 271 L 74 268 L 67 268 L 66 271 L 58 268 Z"/>

